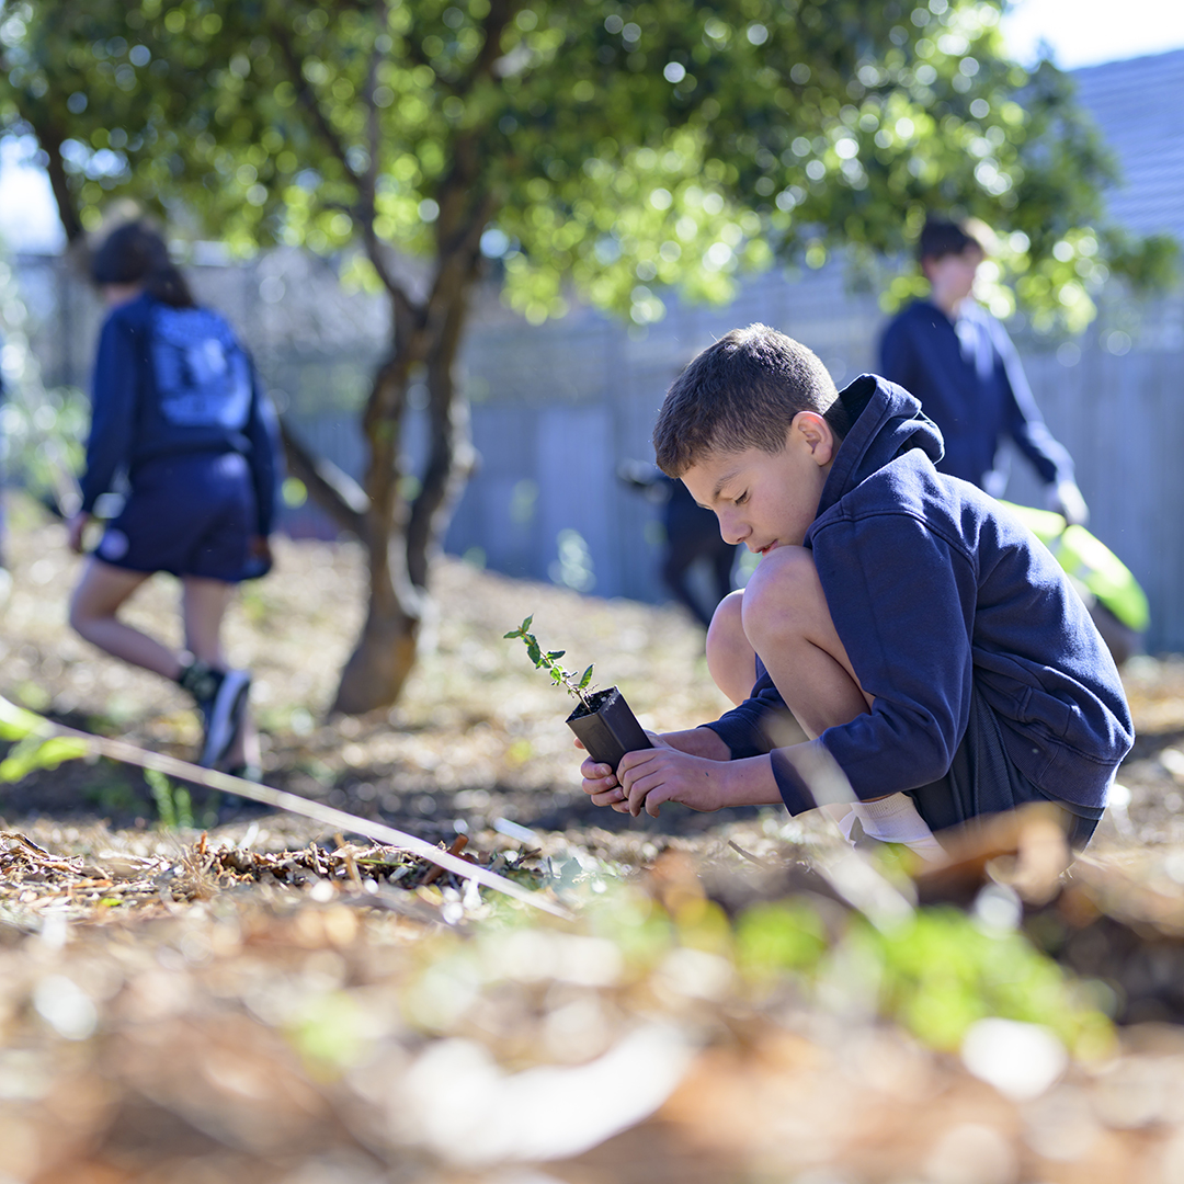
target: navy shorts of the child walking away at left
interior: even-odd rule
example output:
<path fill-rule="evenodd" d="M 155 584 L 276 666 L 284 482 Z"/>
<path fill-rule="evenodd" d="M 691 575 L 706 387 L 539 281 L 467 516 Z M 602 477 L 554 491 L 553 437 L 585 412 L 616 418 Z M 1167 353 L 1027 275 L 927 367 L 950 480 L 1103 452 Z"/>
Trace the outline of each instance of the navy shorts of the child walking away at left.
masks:
<path fill-rule="evenodd" d="M 185 452 L 137 465 L 95 555 L 133 572 L 236 584 L 257 533 L 255 488 L 238 452 Z"/>

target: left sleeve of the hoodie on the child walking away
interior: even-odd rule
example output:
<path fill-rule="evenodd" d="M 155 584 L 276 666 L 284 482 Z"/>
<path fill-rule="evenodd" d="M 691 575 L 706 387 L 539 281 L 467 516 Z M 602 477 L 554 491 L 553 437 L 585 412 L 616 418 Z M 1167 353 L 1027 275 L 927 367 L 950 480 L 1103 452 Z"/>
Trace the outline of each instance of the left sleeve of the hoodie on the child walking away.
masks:
<path fill-rule="evenodd" d="M 95 359 L 86 471 L 81 482 L 82 510 L 86 514 L 110 490 L 116 470 L 131 455 L 140 369 L 139 335 L 122 317 L 109 316 Z"/>

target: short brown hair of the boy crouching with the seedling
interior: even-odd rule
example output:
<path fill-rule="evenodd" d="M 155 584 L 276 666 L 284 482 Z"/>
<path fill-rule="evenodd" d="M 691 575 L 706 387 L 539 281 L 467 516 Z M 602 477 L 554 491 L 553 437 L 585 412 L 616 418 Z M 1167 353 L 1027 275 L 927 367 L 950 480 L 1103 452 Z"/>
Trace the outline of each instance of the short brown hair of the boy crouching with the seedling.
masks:
<path fill-rule="evenodd" d="M 776 455 L 799 411 L 825 414 L 837 394 L 826 367 L 800 342 L 766 324 L 733 329 L 667 392 L 654 427 L 657 465 L 681 477 L 710 452 L 759 448 Z M 845 435 L 845 424 L 831 426 Z"/>

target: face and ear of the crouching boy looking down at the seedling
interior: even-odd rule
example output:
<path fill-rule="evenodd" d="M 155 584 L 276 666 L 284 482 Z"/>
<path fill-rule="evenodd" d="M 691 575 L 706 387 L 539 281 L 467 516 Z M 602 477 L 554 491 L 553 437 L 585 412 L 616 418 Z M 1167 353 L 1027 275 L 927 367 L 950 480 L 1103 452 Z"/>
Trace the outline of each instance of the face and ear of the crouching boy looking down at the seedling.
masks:
<path fill-rule="evenodd" d="M 726 542 L 742 542 L 764 555 L 802 546 L 837 450 L 838 439 L 822 416 L 802 411 L 780 452 L 710 452 L 682 481 L 700 506 L 714 510 Z"/>

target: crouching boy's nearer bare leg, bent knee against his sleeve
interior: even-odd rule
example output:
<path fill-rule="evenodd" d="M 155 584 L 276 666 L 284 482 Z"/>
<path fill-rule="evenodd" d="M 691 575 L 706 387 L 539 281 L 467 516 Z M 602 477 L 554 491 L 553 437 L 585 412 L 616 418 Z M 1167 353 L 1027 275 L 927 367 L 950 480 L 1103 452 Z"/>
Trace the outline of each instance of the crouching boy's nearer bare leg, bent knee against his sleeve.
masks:
<path fill-rule="evenodd" d="M 871 709 L 835 631 L 813 555 L 778 547 L 744 591 L 744 633 L 811 738 Z M 725 691 L 726 693 L 726 691 Z"/>

